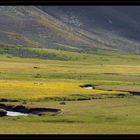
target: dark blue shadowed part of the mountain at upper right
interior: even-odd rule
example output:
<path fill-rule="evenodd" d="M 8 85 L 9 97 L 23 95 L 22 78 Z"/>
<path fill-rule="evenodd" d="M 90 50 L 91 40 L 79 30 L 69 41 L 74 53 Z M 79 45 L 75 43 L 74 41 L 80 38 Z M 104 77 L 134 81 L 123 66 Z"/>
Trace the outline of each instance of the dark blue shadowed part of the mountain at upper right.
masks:
<path fill-rule="evenodd" d="M 38 8 L 90 32 L 101 28 L 130 39 L 140 39 L 139 6 L 39 6 Z"/>

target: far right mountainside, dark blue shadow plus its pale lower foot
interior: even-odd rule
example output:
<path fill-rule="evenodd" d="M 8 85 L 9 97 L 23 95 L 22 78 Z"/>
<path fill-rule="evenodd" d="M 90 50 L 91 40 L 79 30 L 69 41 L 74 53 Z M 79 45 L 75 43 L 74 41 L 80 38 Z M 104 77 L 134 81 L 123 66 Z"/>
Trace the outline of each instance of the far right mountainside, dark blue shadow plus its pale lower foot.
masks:
<path fill-rule="evenodd" d="M 139 6 L 39 6 L 53 17 L 82 28 L 100 43 L 119 50 L 139 53 Z M 100 44 L 99 44 L 100 45 Z"/>

